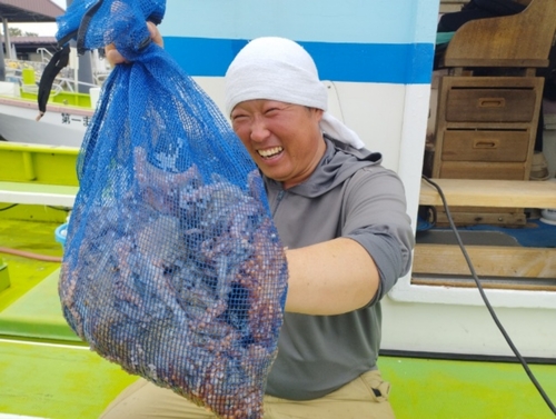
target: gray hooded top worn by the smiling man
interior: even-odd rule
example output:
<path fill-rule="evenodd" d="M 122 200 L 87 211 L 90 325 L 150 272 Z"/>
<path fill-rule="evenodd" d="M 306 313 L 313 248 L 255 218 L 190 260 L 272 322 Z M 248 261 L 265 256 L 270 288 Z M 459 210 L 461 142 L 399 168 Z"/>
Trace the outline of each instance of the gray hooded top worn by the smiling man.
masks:
<path fill-rule="evenodd" d="M 305 182 L 284 190 L 265 179 L 282 245 L 296 249 L 337 237 L 363 245 L 380 273 L 367 307 L 339 316 L 286 313 L 267 393 L 286 399 L 322 397 L 376 369 L 379 300 L 408 272 L 414 232 L 398 176 L 381 156 L 325 138 L 326 153 Z"/>

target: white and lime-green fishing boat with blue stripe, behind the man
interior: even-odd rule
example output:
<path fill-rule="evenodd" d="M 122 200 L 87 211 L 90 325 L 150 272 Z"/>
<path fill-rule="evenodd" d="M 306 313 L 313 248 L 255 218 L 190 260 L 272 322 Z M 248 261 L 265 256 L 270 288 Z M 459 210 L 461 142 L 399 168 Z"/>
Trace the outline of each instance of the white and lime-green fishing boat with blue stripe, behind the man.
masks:
<path fill-rule="evenodd" d="M 383 303 L 378 366 L 393 385 L 397 418 L 548 419 L 554 415 L 547 399 L 556 400 L 553 250 L 516 252 L 520 247 L 507 230 L 461 232 L 473 259 L 489 255 L 512 269 L 518 256 L 530 262 L 527 280 L 507 270 L 498 282 L 479 278 L 485 300 L 471 275 L 460 271 L 465 263 L 449 271 L 461 256 L 446 231 L 426 240 L 417 232 L 419 208 L 443 204 L 421 176 L 438 12 L 438 0 L 324 0 L 318 10 L 292 0 L 266 7 L 168 0 L 161 32 L 165 48 L 218 106 L 227 64 L 245 40 L 274 34 L 300 41 L 326 80 L 330 111 L 399 173 L 418 240 L 413 271 Z M 0 211 L 1 246 L 60 258 L 57 231 L 79 187 L 72 170 L 77 148 L 0 142 L 0 158 L 2 152 L 0 209 L 18 206 Z M 554 181 L 433 180 L 449 204 L 556 208 Z M 97 418 L 136 377 L 89 351 L 64 323 L 56 289 L 59 261 L 0 257 L 0 419 Z M 433 265 L 444 271 L 427 271 Z"/>

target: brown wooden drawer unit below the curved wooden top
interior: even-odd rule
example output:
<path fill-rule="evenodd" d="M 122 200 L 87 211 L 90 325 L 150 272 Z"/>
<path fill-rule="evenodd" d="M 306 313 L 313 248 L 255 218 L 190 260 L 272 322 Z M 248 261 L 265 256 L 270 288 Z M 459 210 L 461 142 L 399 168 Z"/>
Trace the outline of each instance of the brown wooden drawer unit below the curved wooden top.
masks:
<path fill-rule="evenodd" d="M 433 177 L 528 180 L 544 79 L 440 78 Z"/>

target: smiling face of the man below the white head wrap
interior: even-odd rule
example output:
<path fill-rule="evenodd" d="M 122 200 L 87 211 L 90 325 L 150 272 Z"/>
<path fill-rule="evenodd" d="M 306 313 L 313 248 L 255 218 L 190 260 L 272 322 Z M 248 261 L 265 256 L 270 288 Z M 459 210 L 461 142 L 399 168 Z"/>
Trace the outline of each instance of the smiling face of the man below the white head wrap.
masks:
<path fill-rule="evenodd" d="M 231 111 L 234 131 L 267 177 L 290 188 L 306 180 L 326 150 L 320 109 L 247 100 Z"/>

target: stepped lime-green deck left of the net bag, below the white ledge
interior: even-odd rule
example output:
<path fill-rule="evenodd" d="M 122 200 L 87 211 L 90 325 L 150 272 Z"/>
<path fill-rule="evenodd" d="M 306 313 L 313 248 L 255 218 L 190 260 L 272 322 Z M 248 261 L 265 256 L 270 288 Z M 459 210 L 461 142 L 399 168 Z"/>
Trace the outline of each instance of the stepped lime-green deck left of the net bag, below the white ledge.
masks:
<path fill-rule="evenodd" d="M 28 207 L 18 208 L 24 220 L 0 218 L 0 247 L 61 257 L 54 230 L 66 213 L 58 212 Z M 70 330 L 58 299 L 60 263 L 0 258 L 11 282 L 0 292 L 0 413 L 97 418 L 137 378 L 91 352 Z"/>

